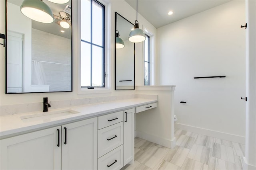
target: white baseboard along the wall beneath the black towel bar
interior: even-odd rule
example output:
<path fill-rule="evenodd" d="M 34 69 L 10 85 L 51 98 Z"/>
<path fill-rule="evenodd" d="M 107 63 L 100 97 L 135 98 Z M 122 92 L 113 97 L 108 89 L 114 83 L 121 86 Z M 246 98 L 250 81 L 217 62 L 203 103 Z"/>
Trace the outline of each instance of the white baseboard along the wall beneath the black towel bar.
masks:
<path fill-rule="evenodd" d="M 193 133 L 198 133 L 198 134 L 201 134 L 201 135 L 207 135 L 207 136 L 210 136 L 210 137 L 216 137 L 216 138 L 219 138 L 219 139 L 224 139 L 226 141 L 232 141 L 232 142 L 236 142 L 236 143 L 245 144 L 245 137 L 230 134 L 230 133 L 213 131 L 213 130 L 210 130 L 210 129 L 204 129 L 204 128 L 200 128 L 200 127 L 184 125 L 184 124 L 181 124 L 181 123 L 175 123 L 174 127 L 177 128 L 177 129 L 182 129 L 182 130 L 193 132 Z"/>

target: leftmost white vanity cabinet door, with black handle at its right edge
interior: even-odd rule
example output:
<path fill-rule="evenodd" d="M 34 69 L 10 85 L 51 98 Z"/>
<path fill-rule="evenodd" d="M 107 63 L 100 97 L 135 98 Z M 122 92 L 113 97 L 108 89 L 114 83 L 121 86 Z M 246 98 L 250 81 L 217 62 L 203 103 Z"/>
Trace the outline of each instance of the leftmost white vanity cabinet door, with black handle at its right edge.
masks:
<path fill-rule="evenodd" d="M 58 126 L 0 140 L 0 169 L 60 170 L 60 130 Z"/>

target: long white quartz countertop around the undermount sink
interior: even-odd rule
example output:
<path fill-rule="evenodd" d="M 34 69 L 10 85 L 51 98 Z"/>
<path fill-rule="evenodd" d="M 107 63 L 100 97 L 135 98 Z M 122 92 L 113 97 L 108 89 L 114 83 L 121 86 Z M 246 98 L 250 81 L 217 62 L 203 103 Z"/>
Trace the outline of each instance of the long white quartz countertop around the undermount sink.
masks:
<path fill-rule="evenodd" d="M 71 123 L 74 121 L 79 121 L 82 119 L 88 119 L 91 117 L 97 117 L 100 115 L 113 113 L 116 111 L 121 111 L 125 109 L 130 109 L 133 107 L 143 106 L 146 104 L 152 104 L 157 102 L 155 99 L 145 99 L 145 98 L 132 98 L 125 100 L 116 100 L 112 102 L 104 102 L 97 104 L 88 104 L 82 106 L 74 107 L 64 107 L 60 109 L 48 109 L 47 113 L 62 111 L 62 110 L 72 110 L 79 113 L 72 115 L 64 115 L 60 117 L 39 119 L 35 121 L 23 121 L 20 117 L 34 114 L 42 114 L 46 112 L 37 111 L 29 113 L 19 113 L 14 115 L 0 116 L 0 139 L 7 137 L 12 137 L 16 135 L 21 135 L 24 133 L 29 133 L 32 131 L 37 131 L 41 129 L 46 129 L 58 125 L 64 125 L 66 123 Z M 46 114 L 47 114 L 46 113 Z"/>

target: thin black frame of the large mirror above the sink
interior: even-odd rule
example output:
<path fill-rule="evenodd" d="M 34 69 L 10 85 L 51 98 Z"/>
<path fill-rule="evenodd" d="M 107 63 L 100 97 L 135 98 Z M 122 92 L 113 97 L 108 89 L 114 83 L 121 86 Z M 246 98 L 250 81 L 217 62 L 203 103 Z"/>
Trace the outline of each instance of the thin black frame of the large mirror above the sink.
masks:
<path fill-rule="evenodd" d="M 73 25 L 73 10 L 72 0 L 71 2 L 71 27 Z M 55 93 L 55 92 L 22 92 L 22 93 L 8 93 L 7 92 L 7 0 L 5 0 L 5 35 L 6 35 L 6 46 L 5 46 L 5 94 L 29 94 L 29 93 Z M 57 91 L 57 92 L 73 92 L 73 27 L 71 31 L 71 90 L 70 91 Z"/>

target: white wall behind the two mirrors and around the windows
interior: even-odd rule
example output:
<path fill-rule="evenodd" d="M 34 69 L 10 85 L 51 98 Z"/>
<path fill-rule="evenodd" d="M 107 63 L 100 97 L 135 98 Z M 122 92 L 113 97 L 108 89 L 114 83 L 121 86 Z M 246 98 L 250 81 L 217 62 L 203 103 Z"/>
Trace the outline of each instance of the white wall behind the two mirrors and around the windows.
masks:
<path fill-rule="evenodd" d="M 74 3 L 74 0 L 73 0 Z M 114 90 L 114 53 L 115 53 L 115 12 L 118 12 L 124 16 L 127 20 L 132 23 L 136 19 L 136 11 L 128 5 L 124 0 L 108 0 L 110 4 L 110 76 L 111 76 L 111 92 L 108 94 L 77 94 L 77 52 L 76 52 L 76 42 L 73 41 L 73 92 L 60 92 L 60 93 L 39 93 L 39 94 L 5 94 L 5 48 L 0 46 L 0 106 L 2 105 L 12 105 L 12 104 L 26 104 L 34 102 L 42 102 L 43 97 L 48 97 L 50 101 L 58 100 L 70 100 L 78 98 L 87 98 L 92 96 L 111 96 L 111 95 L 123 95 L 123 94 L 133 94 L 134 90 Z M 76 7 L 73 6 L 75 11 Z M 108 9 L 108 8 L 106 8 Z M 138 15 L 138 21 L 140 22 L 140 27 L 148 27 L 153 33 L 156 32 L 156 28 L 152 26 L 146 19 Z M 0 22 L 5 23 L 5 1 L 0 0 Z M 74 24 L 74 23 L 73 23 Z M 5 25 L 0 24 L 0 33 L 5 33 Z M 76 35 L 73 35 L 76 37 Z M 144 81 L 143 77 L 143 43 L 136 44 L 136 59 L 135 59 L 135 71 L 136 78 L 135 84 L 142 85 Z"/>

